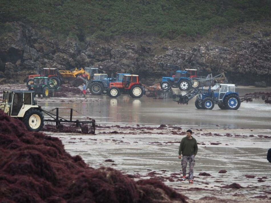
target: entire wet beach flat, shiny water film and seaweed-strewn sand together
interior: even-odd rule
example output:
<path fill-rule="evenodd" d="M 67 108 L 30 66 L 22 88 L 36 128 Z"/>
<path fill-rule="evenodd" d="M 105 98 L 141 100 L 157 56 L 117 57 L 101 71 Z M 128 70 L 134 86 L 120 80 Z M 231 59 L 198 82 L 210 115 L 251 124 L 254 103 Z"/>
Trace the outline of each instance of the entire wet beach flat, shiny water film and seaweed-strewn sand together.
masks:
<path fill-rule="evenodd" d="M 3 88 L 0 86 L 0 90 Z M 240 95 L 256 91 L 270 92 L 271 88 L 239 89 Z M 94 168 L 113 167 L 132 175 L 135 180 L 157 178 L 186 195 L 189 202 L 204 196 L 243 202 L 268 202 L 271 199 L 271 165 L 266 160 L 267 150 L 271 147 L 271 105 L 261 100 L 243 102 L 236 111 L 220 110 L 217 105 L 213 110 L 197 110 L 194 100 L 188 105 L 178 105 L 170 99 L 145 96 L 133 99 L 121 95 L 112 99 L 105 95 L 87 95 L 85 99 L 82 95 L 71 95 L 37 98 L 37 101 L 46 110 L 62 108 L 60 114 L 64 118 L 69 118 L 68 108 L 74 108 L 83 113 L 75 113 L 74 119 L 84 120 L 86 116 L 96 119 L 96 124 L 100 125 L 96 135 L 46 132 L 60 138 L 69 153 L 81 155 Z M 157 129 L 160 124 L 167 127 Z M 180 180 L 181 161 L 177 159 L 179 142 L 184 137 L 181 132 L 189 128 L 193 129 L 199 143 L 192 185 Z M 106 159 L 114 162 L 104 162 Z M 220 170 L 227 173 L 218 173 Z M 211 176 L 199 176 L 202 172 Z M 245 175 L 255 177 L 247 178 Z M 264 182 L 258 182 L 261 180 Z M 221 188 L 232 183 L 244 188 Z"/>

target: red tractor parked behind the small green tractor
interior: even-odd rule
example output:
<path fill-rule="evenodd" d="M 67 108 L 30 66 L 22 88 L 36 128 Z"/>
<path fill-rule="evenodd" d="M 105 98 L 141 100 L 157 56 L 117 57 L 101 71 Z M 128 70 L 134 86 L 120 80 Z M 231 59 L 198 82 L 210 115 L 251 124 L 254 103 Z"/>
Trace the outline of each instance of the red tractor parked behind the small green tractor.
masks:
<path fill-rule="evenodd" d="M 58 70 L 56 68 L 43 68 L 41 74 L 39 75 L 29 75 L 24 81 L 26 85 L 33 85 L 34 84 L 34 77 L 48 77 L 49 80 L 52 80 L 55 87 L 60 86 L 60 76 Z"/>

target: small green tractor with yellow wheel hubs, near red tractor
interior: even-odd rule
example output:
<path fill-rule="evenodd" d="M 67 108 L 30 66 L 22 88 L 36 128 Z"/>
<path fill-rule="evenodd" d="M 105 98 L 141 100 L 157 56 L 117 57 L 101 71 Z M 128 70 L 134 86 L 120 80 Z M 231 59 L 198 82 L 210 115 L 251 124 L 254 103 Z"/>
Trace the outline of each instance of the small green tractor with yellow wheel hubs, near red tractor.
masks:
<path fill-rule="evenodd" d="M 48 77 L 34 77 L 34 83 L 27 85 L 29 91 L 34 91 L 34 95 L 38 97 L 53 97 L 54 91 L 58 89 L 54 80 Z"/>

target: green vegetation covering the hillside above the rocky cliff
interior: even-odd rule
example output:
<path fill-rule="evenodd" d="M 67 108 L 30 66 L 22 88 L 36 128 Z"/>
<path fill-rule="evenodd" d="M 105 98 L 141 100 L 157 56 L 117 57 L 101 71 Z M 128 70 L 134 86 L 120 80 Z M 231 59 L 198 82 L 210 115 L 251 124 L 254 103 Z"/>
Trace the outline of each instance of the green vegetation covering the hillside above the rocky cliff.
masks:
<path fill-rule="evenodd" d="M 270 0 L 0 0 L 0 5 L 2 23 L 23 21 L 81 41 L 88 36 L 197 36 L 271 17 Z"/>

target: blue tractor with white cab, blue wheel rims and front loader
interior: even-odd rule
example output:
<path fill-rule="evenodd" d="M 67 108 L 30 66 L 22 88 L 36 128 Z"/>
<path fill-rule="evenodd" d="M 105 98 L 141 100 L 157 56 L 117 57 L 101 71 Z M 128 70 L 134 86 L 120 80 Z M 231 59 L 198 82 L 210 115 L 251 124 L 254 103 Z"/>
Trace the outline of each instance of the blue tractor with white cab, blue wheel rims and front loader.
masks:
<path fill-rule="evenodd" d="M 217 104 L 221 109 L 237 110 L 241 100 L 235 92 L 234 84 L 215 84 L 208 90 L 193 89 L 186 95 L 173 95 L 173 101 L 179 104 L 187 104 L 189 100 L 197 96 L 195 106 L 197 109 L 212 110 Z"/>

